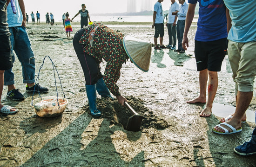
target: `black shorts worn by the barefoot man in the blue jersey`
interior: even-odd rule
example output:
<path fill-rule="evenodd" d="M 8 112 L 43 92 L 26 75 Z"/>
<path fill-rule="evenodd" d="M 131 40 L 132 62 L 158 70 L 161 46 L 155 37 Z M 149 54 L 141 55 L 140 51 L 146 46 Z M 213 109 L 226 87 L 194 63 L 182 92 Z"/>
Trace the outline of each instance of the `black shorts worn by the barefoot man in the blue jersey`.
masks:
<path fill-rule="evenodd" d="M 197 71 L 221 71 L 222 61 L 228 48 L 227 38 L 209 42 L 195 40 L 195 60 Z"/>

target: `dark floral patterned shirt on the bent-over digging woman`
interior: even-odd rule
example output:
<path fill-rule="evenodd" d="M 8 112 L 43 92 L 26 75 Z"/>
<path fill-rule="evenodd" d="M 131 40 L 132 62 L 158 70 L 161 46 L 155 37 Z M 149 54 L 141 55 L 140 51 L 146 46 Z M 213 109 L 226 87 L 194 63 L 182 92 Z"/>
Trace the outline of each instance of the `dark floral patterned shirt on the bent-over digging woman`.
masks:
<path fill-rule="evenodd" d="M 123 37 L 120 32 L 101 23 L 94 23 L 85 29 L 79 41 L 84 52 L 93 56 L 98 63 L 102 62 L 102 58 L 107 62 L 103 80 L 115 96 L 121 95 L 116 82 L 120 78 L 122 64 L 128 59 L 122 43 Z"/>

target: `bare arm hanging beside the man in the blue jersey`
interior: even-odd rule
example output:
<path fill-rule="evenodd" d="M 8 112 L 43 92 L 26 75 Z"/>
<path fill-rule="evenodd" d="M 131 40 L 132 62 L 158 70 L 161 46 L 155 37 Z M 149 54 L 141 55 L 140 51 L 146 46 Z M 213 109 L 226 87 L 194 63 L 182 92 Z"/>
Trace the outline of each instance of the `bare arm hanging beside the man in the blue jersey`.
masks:
<path fill-rule="evenodd" d="M 187 47 L 189 47 L 189 39 L 188 39 L 188 32 L 189 32 L 189 28 L 192 24 L 192 21 L 194 19 L 194 15 L 195 15 L 195 4 L 189 4 L 189 8 L 188 8 L 188 13 L 187 13 L 187 17 L 186 17 L 186 22 L 185 22 L 185 29 L 184 29 L 184 33 L 183 33 L 183 39 L 182 39 L 182 47 L 183 49 L 187 50 Z"/>

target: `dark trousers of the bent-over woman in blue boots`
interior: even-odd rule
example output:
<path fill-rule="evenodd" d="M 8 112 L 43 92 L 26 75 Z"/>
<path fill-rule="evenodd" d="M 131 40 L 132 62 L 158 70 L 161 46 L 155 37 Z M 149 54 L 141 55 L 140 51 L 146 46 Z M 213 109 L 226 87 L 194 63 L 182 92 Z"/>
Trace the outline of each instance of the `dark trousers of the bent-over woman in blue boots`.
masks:
<path fill-rule="evenodd" d="M 85 53 L 83 51 L 84 46 L 79 44 L 79 40 L 81 39 L 83 32 L 84 29 L 80 29 L 75 33 L 73 46 L 84 72 L 85 84 L 93 85 L 97 83 L 98 79 L 102 78 L 103 75 L 101 74 L 101 67 L 98 61 L 94 57 Z"/>

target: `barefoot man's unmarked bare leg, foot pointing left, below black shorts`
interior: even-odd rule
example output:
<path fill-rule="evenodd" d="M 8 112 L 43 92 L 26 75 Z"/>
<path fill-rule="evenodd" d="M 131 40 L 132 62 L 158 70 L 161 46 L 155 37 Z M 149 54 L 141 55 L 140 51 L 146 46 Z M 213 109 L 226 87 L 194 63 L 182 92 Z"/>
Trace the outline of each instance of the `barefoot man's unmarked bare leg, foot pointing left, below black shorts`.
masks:
<path fill-rule="evenodd" d="M 187 103 L 206 103 L 206 85 L 208 80 L 208 70 L 202 70 L 199 72 L 199 87 L 200 95 L 194 100 L 190 100 Z"/>

